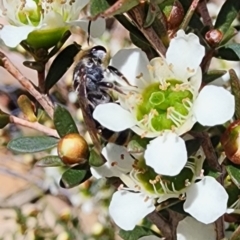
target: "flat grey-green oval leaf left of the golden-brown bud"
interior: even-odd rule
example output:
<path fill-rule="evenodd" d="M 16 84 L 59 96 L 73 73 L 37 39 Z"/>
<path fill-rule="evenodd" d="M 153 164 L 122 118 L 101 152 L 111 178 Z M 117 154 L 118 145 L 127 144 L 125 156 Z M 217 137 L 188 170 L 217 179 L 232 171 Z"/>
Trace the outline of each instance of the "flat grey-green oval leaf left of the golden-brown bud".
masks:
<path fill-rule="evenodd" d="M 58 141 L 59 139 L 48 136 L 20 137 L 10 141 L 7 147 L 19 153 L 34 153 L 53 148 Z"/>

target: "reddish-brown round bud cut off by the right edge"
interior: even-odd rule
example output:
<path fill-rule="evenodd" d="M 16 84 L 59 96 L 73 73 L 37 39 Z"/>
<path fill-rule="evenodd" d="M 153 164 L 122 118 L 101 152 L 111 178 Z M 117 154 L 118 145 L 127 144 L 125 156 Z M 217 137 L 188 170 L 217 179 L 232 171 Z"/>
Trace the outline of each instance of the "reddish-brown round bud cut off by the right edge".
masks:
<path fill-rule="evenodd" d="M 228 159 L 240 164 L 240 120 L 230 124 L 221 137 L 221 143 Z"/>

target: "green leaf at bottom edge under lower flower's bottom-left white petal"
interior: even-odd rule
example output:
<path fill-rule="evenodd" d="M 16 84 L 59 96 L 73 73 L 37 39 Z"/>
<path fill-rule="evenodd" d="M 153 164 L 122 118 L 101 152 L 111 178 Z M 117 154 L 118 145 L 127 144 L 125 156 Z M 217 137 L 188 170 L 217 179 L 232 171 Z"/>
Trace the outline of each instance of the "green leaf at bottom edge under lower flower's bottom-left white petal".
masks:
<path fill-rule="evenodd" d="M 119 236 L 124 240 L 138 240 L 140 237 L 154 235 L 150 228 L 136 226 L 131 231 L 120 230 Z"/>

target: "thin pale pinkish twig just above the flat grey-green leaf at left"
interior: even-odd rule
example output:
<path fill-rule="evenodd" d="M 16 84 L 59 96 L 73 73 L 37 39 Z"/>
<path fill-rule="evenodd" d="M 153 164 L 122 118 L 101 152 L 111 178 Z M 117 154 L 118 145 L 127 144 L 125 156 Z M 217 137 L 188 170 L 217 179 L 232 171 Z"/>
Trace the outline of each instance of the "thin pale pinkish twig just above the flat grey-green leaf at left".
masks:
<path fill-rule="evenodd" d="M 23 126 L 23 127 L 35 129 L 35 130 L 45 133 L 49 136 L 53 136 L 53 137 L 57 137 L 57 138 L 59 137 L 59 135 L 55 129 L 46 127 L 38 122 L 29 122 L 27 120 L 24 120 L 22 118 L 18 118 L 18 117 L 12 116 L 12 115 L 9 117 L 9 119 L 10 119 L 11 123 L 15 123 L 15 124 Z"/>

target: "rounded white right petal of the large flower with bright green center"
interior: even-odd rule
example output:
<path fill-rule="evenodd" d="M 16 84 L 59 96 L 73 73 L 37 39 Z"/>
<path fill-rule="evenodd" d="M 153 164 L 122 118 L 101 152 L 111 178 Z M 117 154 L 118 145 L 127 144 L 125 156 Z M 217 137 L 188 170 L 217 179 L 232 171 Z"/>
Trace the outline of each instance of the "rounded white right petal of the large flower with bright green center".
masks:
<path fill-rule="evenodd" d="M 197 121 L 204 126 L 223 124 L 234 114 L 234 96 L 223 87 L 206 86 L 197 97 L 193 111 Z"/>

